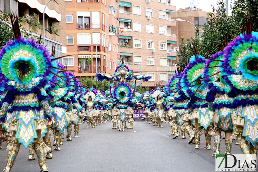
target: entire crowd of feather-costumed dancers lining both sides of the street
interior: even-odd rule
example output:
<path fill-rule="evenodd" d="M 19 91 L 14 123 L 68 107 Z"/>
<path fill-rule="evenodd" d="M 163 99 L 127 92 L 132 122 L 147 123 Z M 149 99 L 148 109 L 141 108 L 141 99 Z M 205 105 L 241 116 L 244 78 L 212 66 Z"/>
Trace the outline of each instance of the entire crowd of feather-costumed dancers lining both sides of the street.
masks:
<path fill-rule="evenodd" d="M 204 58 L 193 45 L 194 56 L 164 87 L 144 94 L 131 89 L 128 81 L 148 81 L 151 76 L 135 76 L 121 59 L 111 76 L 96 73 L 99 81 L 110 81 L 105 92 L 85 88 L 78 78 L 58 63 L 55 47 L 50 53 L 30 38 L 22 38 L 18 18 L 11 15 L 14 40 L 0 50 L 0 149 L 6 139 L 8 157 L 3 172 L 11 171 L 20 145 L 28 151 L 42 172 L 54 150 L 78 137 L 79 127 L 95 128 L 111 121 L 113 129 L 133 129 L 133 108 L 143 106 L 146 123 L 163 127 L 170 122 L 173 139 L 180 136 L 200 149 L 200 137 L 213 153 L 230 154 L 233 139 L 244 154 L 257 153 L 258 141 L 258 33 L 246 30 L 223 51 Z M 126 121 L 129 126 L 126 126 Z M 122 124 L 122 126 L 121 126 Z M 74 128 L 74 132 L 72 130 Z M 223 136 L 221 133 L 223 132 Z M 54 140 L 51 142 L 50 135 Z M 225 138 L 225 152 L 220 150 Z M 249 159 L 251 161 L 251 159 Z"/>

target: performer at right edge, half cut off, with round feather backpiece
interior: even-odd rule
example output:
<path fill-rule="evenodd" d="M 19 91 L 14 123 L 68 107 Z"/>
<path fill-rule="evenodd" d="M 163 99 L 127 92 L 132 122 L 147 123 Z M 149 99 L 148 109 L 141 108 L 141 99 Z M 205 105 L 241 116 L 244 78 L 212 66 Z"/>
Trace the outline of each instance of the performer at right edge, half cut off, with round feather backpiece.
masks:
<path fill-rule="evenodd" d="M 258 141 L 258 33 L 246 31 L 224 48 L 220 62 L 221 77 L 229 84 L 226 90 L 236 108 L 232 139 L 239 136 L 243 154 L 256 154 Z M 248 144 L 248 141 L 250 144 Z"/>

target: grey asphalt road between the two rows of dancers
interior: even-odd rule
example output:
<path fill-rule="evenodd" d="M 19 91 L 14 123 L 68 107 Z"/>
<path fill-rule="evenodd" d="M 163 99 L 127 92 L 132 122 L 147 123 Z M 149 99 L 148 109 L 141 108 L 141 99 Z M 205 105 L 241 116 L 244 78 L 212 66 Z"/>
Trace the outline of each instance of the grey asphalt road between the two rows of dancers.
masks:
<path fill-rule="evenodd" d="M 157 128 L 137 119 L 134 129 L 118 132 L 112 129 L 110 121 L 94 129 L 86 129 L 87 123 L 84 123 L 80 126 L 78 138 L 73 137 L 72 141 L 65 138 L 60 151 L 52 147 L 53 159 L 47 159 L 49 172 L 215 171 L 212 149 L 194 149 L 194 144 L 188 144 L 188 135 L 186 139 L 181 139 L 181 136 L 172 139 L 170 125 L 163 125 L 164 128 Z M 240 154 L 240 147 L 235 142 L 231 153 Z M 200 147 L 204 145 L 205 135 L 202 135 Z M 2 147 L 0 170 L 4 168 L 7 158 L 5 142 Z M 220 150 L 225 151 L 224 140 L 221 141 Z M 36 160 L 28 161 L 28 153 L 29 150 L 21 145 L 12 172 L 40 171 L 36 154 Z"/>

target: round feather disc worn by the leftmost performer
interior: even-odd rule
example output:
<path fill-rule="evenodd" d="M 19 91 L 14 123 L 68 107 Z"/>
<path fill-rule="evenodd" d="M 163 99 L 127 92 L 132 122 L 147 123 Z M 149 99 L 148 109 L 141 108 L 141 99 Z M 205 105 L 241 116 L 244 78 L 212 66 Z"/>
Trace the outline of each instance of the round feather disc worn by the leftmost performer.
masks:
<path fill-rule="evenodd" d="M 0 73 L 6 85 L 25 92 L 44 87 L 58 73 L 46 48 L 30 38 L 15 38 L 0 50 Z M 52 68 L 53 67 L 53 68 Z"/>

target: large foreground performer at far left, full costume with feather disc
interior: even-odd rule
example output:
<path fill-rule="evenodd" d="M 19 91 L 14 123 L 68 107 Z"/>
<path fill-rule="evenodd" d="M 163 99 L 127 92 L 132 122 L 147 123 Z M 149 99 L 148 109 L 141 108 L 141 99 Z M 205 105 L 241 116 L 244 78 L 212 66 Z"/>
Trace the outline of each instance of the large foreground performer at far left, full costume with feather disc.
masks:
<path fill-rule="evenodd" d="M 10 40 L 0 50 L 0 77 L 6 80 L 7 91 L 0 110 L 2 122 L 13 102 L 11 127 L 8 129 L 11 141 L 3 171 L 11 170 L 21 144 L 28 148 L 33 143 L 40 170 L 45 172 L 48 171 L 45 153 L 49 147 L 43 142 L 41 130 L 53 122 L 53 111 L 48 105 L 44 86 L 57 75 L 58 67 L 46 48 L 33 39 L 21 38 L 17 17 L 11 15 L 11 22 L 15 40 Z M 41 109 L 44 119 L 41 118 Z"/>

